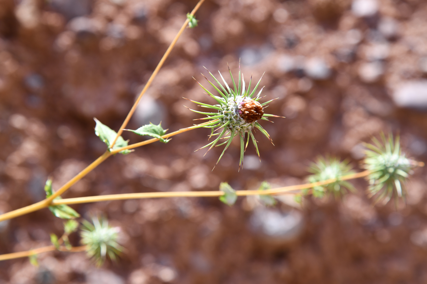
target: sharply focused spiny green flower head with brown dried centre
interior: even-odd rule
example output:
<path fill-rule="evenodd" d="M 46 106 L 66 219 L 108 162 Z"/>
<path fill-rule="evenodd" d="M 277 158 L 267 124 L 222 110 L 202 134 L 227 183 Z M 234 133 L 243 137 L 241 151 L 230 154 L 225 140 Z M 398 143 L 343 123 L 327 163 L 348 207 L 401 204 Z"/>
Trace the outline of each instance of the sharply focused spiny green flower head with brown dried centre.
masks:
<path fill-rule="evenodd" d="M 240 161 L 239 161 L 239 168 L 240 168 L 240 165 L 242 165 L 242 162 L 243 162 L 243 154 L 249 143 L 249 137 L 255 146 L 258 156 L 260 156 L 260 153 L 258 151 L 257 141 L 254 137 L 254 134 L 252 133 L 252 130 L 254 130 L 254 128 L 257 128 L 258 130 L 260 130 L 261 133 L 263 133 L 270 141 L 272 141 L 267 131 L 257 122 L 257 120 L 263 119 L 263 120 L 269 121 L 267 117 L 271 117 L 271 116 L 281 117 L 281 116 L 275 116 L 272 114 L 264 113 L 263 111 L 264 106 L 273 100 L 267 101 L 265 103 L 259 102 L 259 100 L 261 99 L 260 95 L 263 88 L 261 88 L 259 93 L 257 93 L 257 95 L 255 96 L 255 91 L 257 90 L 261 79 L 260 81 L 258 81 L 256 86 L 254 87 L 254 90 L 252 90 L 251 92 L 250 89 L 251 89 L 252 77 L 249 80 L 249 86 L 246 89 L 243 74 L 241 74 L 240 72 L 240 66 L 239 66 L 239 79 L 238 79 L 237 85 L 236 85 L 236 82 L 234 81 L 233 75 L 231 75 L 230 68 L 228 68 L 228 71 L 230 72 L 231 81 L 233 83 L 232 87 L 234 87 L 234 89 L 231 89 L 228 86 L 227 82 L 225 82 L 224 78 L 222 77 L 219 71 L 218 71 L 219 76 L 224 82 L 225 87 L 221 83 L 219 83 L 219 81 L 215 78 L 215 76 L 212 75 L 211 72 L 208 71 L 209 74 L 214 79 L 214 81 L 216 82 L 216 84 L 218 84 L 220 89 L 217 88 L 211 81 L 208 80 L 208 78 L 205 77 L 206 80 L 208 80 L 208 82 L 215 88 L 215 90 L 219 93 L 220 96 L 213 95 L 211 92 L 206 90 L 206 88 L 203 87 L 202 84 L 197 82 L 203 88 L 203 90 L 205 90 L 206 93 L 209 96 L 211 96 L 218 104 L 211 105 L 211 104 L 204 104 L 204 103 L 193 101 L 193 100 L 190 100 L 190 101 L 193 101 L 194 103 L 199 104 L 201 107 L 216 110 L 216 112 L 214 113 L 192 110 L 196 113 L 200 113 L 207 116 L 202 119 L 212 120 L 212 122 L 203 126 L 205 128 L 211 128 L 211 135 L 209 136 L 209 139 L 211 138 L 211 136 L 217 136 L 216 139 L 214 139 L 212 142 L 208 143 L 207 145 L 203 146 L 200 149 L 210 146 L 210 148 L 208 149 L 209 151 L 213 147 L 226 144 L 224 151 L 222 151 L 221 156 L 219 156 L 219 159 L 216 162 L 216 164 L 218 164 L 225 150 L 227 150 L 228 146 L 230 146 L 234 136 L 238 135 L 240 136 Z M 214 133 L 216 130 L 219 130 L 219 129 L 222 129 L 222 130 L 220 132 Z M 246 146 L 245 146 L 245 138 L 247 139 Z M 225 142 L 222 142 L 216 145 L 219 139 L 227 139 L 227 140 Z"/>

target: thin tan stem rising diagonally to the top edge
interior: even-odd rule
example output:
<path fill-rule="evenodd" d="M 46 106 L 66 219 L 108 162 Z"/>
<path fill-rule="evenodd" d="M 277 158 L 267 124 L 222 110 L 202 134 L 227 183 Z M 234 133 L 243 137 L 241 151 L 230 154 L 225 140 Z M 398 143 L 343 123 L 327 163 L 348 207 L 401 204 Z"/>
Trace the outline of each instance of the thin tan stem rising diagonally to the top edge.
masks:
<path fill-rule="evenodd" d="M 202 5 L 202 3 L 204 1 L 205 0 L 200 0 L 199 3 L 197 3 L 196 7 L 194 7 L 193 11 L 191 11 L 191 13 L 190 13 L 192 16 L 194 15 L 194 13 L 196 13 L 196 11 L 199 9 L 199 7 Z M 175 46 L 175 43 L 178 41 L 178 38 L 184 32 L 185 28 L 188 25 L 188 21 L 189 20 L 187 18 L 187 20 L 185 20 L 184 24 L 181 26 L 181 29 L 179 30 L 178 34 L 173 39 L 172 43 L 170 43 L 170 46 L 167 48 L 166 52 L 164 53 L 163 57 L 161 58 L 159 64 L 156 67 L 156 69 L 151 74 L 150 78 L 148 79 L 147 83 L 145 84 L 144 88 L 142 89 L 141 93 L 139 94 L 138 98 L 136 99 L 134 105 L 132 106 L 131 110 L 129 111 L 128 115 L 126 116 L 126 119 L 123 122 L 122 126 L 120 126 L 120 129 L 117 132 L 116 138 L 114 138 L 114 141 L 111 143 L 110 148 L 113 148 L 114 144 L 117 141 L 117 138 L 119 138 L 119 136 L 122 135 L 123 129 L 125 129 L 126 125 L 128 125 L 129 120 L 131 119 L 133 113 L 135 112 L 135 109 L 136 109 L 136 107 L 137 107 L 140 99 L 142 98 L 142 96 L 144 95 L 144 93 L 146 92 L 146 90 L 148 89 L 148 87 L 151 85 L 152 81 L 154 80 L 155 76 L 159 72 L 160 68 L 163 66 L 164 61 L 169 56 L 170 52 L 172 51 L 173 47 Z"/>

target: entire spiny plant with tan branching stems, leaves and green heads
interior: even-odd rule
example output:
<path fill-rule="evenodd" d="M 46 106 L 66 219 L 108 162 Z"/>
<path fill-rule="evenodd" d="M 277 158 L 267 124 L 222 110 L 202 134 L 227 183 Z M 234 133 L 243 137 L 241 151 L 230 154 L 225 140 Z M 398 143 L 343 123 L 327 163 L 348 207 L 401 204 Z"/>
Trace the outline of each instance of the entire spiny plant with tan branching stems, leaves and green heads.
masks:
<path fill-rule="evenodd" d="M 263 133 L 267 139 L 270 139 L 269 134 L 260 125 L 259 120 L 267 120 L 268 117 L 280 117 L 273 114 L 264 113 L 265 107 L 271 101 L 260 102 L 262 99 L 261 92 L 263 88 L 256 93 L 259 87 L 260 80 L 255 85 L 254 89 L 251 90 L 252 77 L 249 80 L 248 87 L 243 78 L 243 74 L 240 72 L 238 78 L 235 81 L 231 71 L 231 82 L 227 84 L 222 74 L 219 76 L 224 84 L 221 84 L 219 80 L 212 76 L 213 80 L 217 84 L 213 84 L 211 81 L 208 82 L 218 92 L 219 96 L 213 95 L 205 87 L 202 86 L 203 90 L 216 101 L 216 104 L 204 104 L 193 101 L 199 104 L 201 107 L 209 108 L 213 112 L 202 112 L 193 110 L 196 113 L 206 115 L 203 120 L 208 120 L 206 123 L 194 125 L 189 128 L 184 128 L 173 133 L 166 133 L 161 125 L 143 125 L 136 130 L 129 130 L 138 135 L 151 136 L 152 139 L 137 142 L 135 144 L 128 145 L 128 141 L 123 139 L 121 134 L 126 129 L 126 125 L 129 122 L 132 114 L 135 112 L 135 108 L 140 101 L 143 94 L 148 89 L 149 85 L 157 75 L 162 64 L 170 54 L 173 46 L 179 38 L 179 35 L 186 29 L 187 25 L 190 28 L 197 26 L 197 20 L 194 18 L 194 13 L 202 4 L 203 0 L 199 1 L 193 12 L 187 14 L 187 20 L 181 27 L 178 35 L 174 38 L 167 52 L 161 59 L 160 63 L 154 70 L 152 76 L 147 81 L 145 87 L 138 96 L 132 109 L 129 111 L 128 116 L 123 122 L 120 129 L 116 132 L 108 126 L 102 124 L 97 119 L 95 126 L 95 134 L 105 142 L 107 150 L 102 156 L 95 160 L 91 165 L 73 177 L 70 181 L 65 183 L 56 192 L 52 189 L 52 180 L 47 180 L 45 191 L 46 199 L 30 206 L 16 209 L 11 212 L 0 215 L 0 221 L 18 217 L 23 214 L 28 214 L 39 209 L 49 208 L 50 211 L 56 217 L 70 219 L 64 223 L 64 234 L 58 238 L 56 235 L 51 235 L 51 246 L 46 246 L 38 249 L 32 249 L 26 252 L 15 252 L 5 255 L 0 255 L 0 260 L 18 258 L 18 257 L 29 257 L 32 263 L 37 263 L 37 254 L 41 252 L 48 252 L 53 250 L 67 251 L 67 252 L 81 252 L 86 251 L 89 257 L 94 258 L 97 264 L 102 264 L 103 261 L 108 257 L 112 260 L 116 259 L 116 256 L 122 250 L 122 247 L 117 242 L 119 229 L 108 226 L 107 220 L 100 220 L 99 218 L 93 218 L 93 224 L 88 221 L 82 221 L 82 229 L 80 231 L 82 246 L 73 247 L 68 241 L 68 235 L 75 232 L 79 223 L 75 218 L 79 217 L 79 214 L 70 208 L 68 205 L 77 203 L 91 203 L 101 202 L 106 200 L 124 200 L 124 199 L 140 199 L 140 198 L 160 198 L 160 197 L 219 197 L 219 199 L 228 204 L 233 205 L 239 196 L 254 195 L 266 206 L 273 206 L 276 203 L 274 195 L 278 194 L 297 194 L 301 197 L 304 194 L 313 194 L 314 197 L 322 197 L 327 193 L 335 196 L 340 196 L 353 191 L 354 187 L 347 180 L 367 177 L 369 180 L 369 194 L 377 195 L 377 200 L 388 201 L 392 197 L 404 197 L 404 188 L 402 182 L 404 182 L 409 174 L 412 174 L 412 168 L 416 166 L 423 166 L 422 162 L 416 162 L 412 159 L 408 159 L 405 154 L 401 152 L 399 139 L 393 140 L 392 136 L 386 139 L 385 136 L 382 138 L 382 142 L 374 139 L 374 145 L 367 144 L 366 147 L 366 159 L 364 160 L 363 168 L 366 171 L 354 172 L 351 170 L 351 166 L 347 162 L 340 162 L 338 158 L 318 158 L 316 163 L 310 168 L 311 175 L 308 180 L 310 183 L 302 185 L 292 185 L 280 188 L 270 188 L 270 185 L 263 182 L 257 190 L 234 190 L 228 183 L 221 183 L 218 191 L 170 191 L 170 192 L 144 192 L 144 193 L 132 193 L 132 194 L 111 194 L 101 196 L 89 196 L 89 197 L 76 197 L 62 199 L 61 194 L 67 191 L 73 184 L 82 179 L 86 174 L 97 167 L 101 162 L 105 161 L 108 157 L 114 154 L 129 154 L 132 149 L 147 145 L 152 142 L 161 141 L 167 143 L 169 137 L 183 133 L 186 131 L 194 130 L 196 128 L 211 128 L 211 135 L 213 141 L 209 142 L 202 148 L 209 147 L 208 151 L 216 146 L 225 145 L 222 154 L 219 156 L 219 160 L 225 153 L 225 150 L 230 146 L 232 139 L 235 136 L 240 138 L 240 162 L 239 168 L 243 165 L 243 155 L 246 147 L 249 144 L 249 139 L 252 140 L 254 147 L 260 156 L 257 141 L 254 137 L 253 130 L 259 130 Z M 231 85 L 231 87 L 230 87 Z M 225 142 L 220 141 L 224 139 Z M 245 143 L 246 139 L 246 143 Z"/>

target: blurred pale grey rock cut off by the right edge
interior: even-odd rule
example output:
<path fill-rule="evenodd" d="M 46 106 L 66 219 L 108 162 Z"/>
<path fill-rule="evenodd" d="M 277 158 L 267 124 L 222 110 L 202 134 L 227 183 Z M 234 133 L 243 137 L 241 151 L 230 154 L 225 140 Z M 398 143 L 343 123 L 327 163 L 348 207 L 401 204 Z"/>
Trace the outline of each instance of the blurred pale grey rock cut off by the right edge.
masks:
<path fill-rule="evenodd" d="M 401 84 L 393 91 L 393 100 L 399 107 L 427 110 L 427 80 Z"/>

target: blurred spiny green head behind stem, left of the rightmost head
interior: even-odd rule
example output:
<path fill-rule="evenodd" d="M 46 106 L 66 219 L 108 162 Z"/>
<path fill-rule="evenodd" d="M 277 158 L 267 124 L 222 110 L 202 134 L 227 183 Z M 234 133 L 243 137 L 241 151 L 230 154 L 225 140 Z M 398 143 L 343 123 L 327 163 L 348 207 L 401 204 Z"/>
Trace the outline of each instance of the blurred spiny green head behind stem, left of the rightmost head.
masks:
<path fill-rule="evenodd" d="M 348 174 L 354 174 L 351 171 L 351 165 L 347 161 L 340 161 L 335 157 L 322 157 L 319 156 L 315 163 L 313 163 L 309 172 L 312 173 L 308 180 L 310 183 L 316 183 L 324 180 L 334 179 L 336 181 L 328 183 L 326 185 L 314 186 L 313 196 L 322 197 L 326 193 L 333 194 L 335 197 L 339 197 L 345 193 L 345 188 L 349 191 L 354 191 L 354 186 L 341 178 Z"/>

